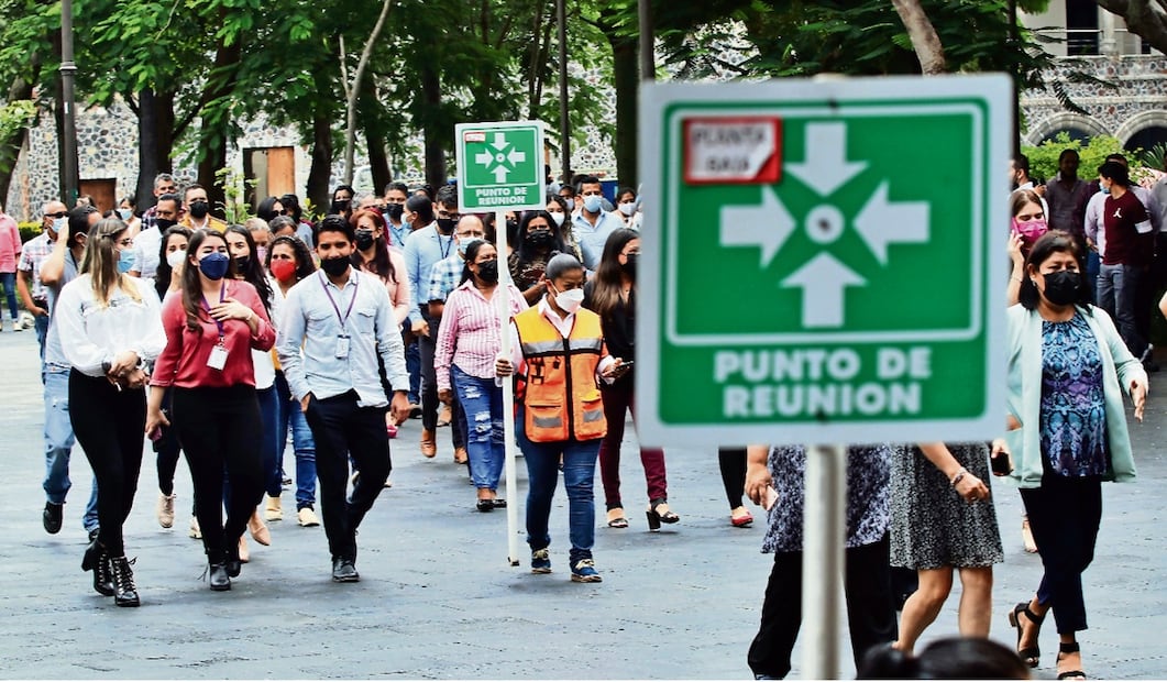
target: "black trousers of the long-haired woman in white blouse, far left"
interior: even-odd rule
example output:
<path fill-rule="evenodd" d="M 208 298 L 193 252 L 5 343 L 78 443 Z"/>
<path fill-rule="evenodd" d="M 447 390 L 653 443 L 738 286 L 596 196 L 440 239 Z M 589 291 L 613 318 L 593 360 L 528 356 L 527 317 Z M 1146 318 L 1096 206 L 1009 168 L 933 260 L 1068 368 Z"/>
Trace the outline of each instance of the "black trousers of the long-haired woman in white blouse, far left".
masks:
<path fill-rule="evenodd" d="M 142 468 L 146 391 L 119 391 L 104 376 L 69 373 L 69 419 L 97 478 L 98 541 L 123 556 L 121 526 L 130 516 Z"/>

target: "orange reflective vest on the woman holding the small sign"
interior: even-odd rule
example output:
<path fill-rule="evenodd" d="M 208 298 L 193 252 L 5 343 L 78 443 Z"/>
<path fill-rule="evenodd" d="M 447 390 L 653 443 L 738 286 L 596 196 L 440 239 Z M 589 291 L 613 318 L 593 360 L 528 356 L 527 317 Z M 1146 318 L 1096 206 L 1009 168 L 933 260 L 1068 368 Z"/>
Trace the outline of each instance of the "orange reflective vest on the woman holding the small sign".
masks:
<path fill-rule="evenodd" d="M 603 438 L 608 422 L 595 380 L 606 354 L 600 316 L 580 308 L 566 339 L 539 306 L 515 315 L 515 326 L 526 362 L 518 389 L 526 437 L 533 443 Z"/>

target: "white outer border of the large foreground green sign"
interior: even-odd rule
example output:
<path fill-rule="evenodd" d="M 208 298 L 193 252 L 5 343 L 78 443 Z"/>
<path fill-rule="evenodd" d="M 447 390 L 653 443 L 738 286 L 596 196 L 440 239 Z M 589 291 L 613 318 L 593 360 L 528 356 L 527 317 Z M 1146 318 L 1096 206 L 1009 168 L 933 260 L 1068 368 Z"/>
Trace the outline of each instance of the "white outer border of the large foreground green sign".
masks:
<path fill-rule="evenodd" d="M 869 77 L 832 78 L 823 81 L 783 79 L 763 83 L 647 83 L 641 88 L 640 110 L 640 180 L 642 196 L 648 207 L 659 206 L 662 196 L 663 135 L 668 128 L 661 127 L 666 107 L 676 103 L 741 102 L 754 103 L 760 109 L 787 102 L 822 102 L 827 107 L 832 103 L 871 103 L 903 100 L 911 98 L 978 99 L 988 110 L 988 156 L 986 181 L 990 215 L 1007 215 L 1008 187 L 1004 173 L 1000 174 L 999 192 L 993 173 L 1005 168 L 1013 147 L 1012 98 L 1015 97 L 1012 79 L 1005 74 L 978 74 L 935 77 Z M 680 173 L 682 169 L 677 168 Z M 895 419 L 882 422 L 818 422 L 805 419 L 760 424 L 726 422 L 719 415 L 711 415 L 707 423 L 675 425 L 659 418 L 659 308 L 663 304 L 661 291 L 661 211 L 645 210 L 641 225 L 642 251 L 638 287 L 642 313 L 637 315 L 636 377 L 637 432 L 647 445 L 693 446 L 745 446 L 748 444 L 838 444 L 838 443 L 916 443 L 929 440 L 987 440 L 1004 431 L 1005 418 L 1005 350 L 997 340 L 1005 337 L 1005 283 L 1007 279 L 1005 258 L 1005 229 L 988 230 L 985 252 L 990 258 L 990 279 L 986 284 L 988 301 L 1000 300 L 1000 314 L 990 314 L 985 320 L 988 343 L 985 345 L 984 376 L 985 404 L 974 417 L 946 419 Z M 993 260 L 993 255 L 1001 257 Z M 999 262 L 1000 266 L 993 266 Z M 997 277 L 997 276 L 1000 277 Z M 644 308 L 648 309 L 644 309 Z M 715 311 L 711 311 L 715 314 Z M 677 367 L 670 371 L 686 373 L 693 368 Z M 964 387 L 951 387 L 963 390 Z"/>

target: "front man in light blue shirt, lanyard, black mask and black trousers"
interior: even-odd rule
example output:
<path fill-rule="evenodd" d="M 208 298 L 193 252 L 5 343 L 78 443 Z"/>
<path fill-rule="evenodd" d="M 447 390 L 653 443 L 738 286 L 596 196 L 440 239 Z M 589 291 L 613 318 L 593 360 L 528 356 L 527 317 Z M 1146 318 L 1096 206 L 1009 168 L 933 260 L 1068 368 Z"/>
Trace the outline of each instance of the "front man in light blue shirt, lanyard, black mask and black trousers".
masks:
<path fill-rule="evenodd" d="M 378 362 L 393 390 L 393 418 L 401 423 L 410 416 L 410 377 L 393 306 L 379 279 L 350 265 L 354 238 L 352 225 L 341 216 L 321 221 L 321 271 L 288 292 L 275 348 L 316 441 L 320 507 L 337 583 L 361 579 L 357 527 L 392 468 L 385 431 L 390 401 Z M 349 457 L 359 475 L 345 500 Z"/>

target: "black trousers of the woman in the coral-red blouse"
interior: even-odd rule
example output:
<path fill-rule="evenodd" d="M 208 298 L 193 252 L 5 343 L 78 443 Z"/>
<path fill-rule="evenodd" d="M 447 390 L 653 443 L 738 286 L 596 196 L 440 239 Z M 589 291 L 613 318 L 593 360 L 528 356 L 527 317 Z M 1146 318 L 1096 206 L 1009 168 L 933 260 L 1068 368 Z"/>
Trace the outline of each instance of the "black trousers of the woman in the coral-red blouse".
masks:
<path fill-rule="evenodd" d="M 195 516 L 212 563 L 238 547 L 264 495 L 263 426 L 256 388 L 174 388 L 174 426 L 187 453 Z M 231 479 L 223 520 L 223 472 Z"/>

